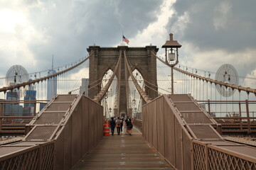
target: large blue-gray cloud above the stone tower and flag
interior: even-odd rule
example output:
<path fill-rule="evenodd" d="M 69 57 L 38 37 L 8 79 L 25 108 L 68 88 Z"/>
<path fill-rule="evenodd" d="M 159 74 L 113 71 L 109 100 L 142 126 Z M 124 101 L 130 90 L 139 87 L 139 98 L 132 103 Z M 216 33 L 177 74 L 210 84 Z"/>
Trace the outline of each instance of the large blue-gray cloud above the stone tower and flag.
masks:
<path fill-rule="evenodd" d="M 107 47 L 116 45 L 122 42 L 122 30 L 127 38 L 134 37 L 156 20 L 162 1 L 27 0 L 19 3 L 5 5 L 14 9 L 23 6 L 28 22 L 40 34 L 29 35 L 31 40 L 26 42 L 36 61 L 28 72 L 35 72 L 34 69 L 50 68 L 52 55 L 55 65 L 60 66 L 87 55 L 86 48 L 94 43 Z M 22 26 L 16 27 L 18 40 L 26 38 L 22 29 Z"/>

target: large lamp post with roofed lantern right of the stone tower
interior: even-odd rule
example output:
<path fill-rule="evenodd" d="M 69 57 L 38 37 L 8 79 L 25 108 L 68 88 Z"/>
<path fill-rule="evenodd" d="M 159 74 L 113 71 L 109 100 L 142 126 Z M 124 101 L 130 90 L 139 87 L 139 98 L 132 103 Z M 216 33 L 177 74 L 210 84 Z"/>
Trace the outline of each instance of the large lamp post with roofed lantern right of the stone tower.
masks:
<path fill-rule="evenodd" d="M 166 40 L 162 48 L 165 48 L 165 62 L 171 67 L 171 94 L 174 94 L 174 66 L 178 64 L 178 48 L 181 45 L 174 40 L 174 34 L 170 33 L 169 35 L 170 40 Z"/>

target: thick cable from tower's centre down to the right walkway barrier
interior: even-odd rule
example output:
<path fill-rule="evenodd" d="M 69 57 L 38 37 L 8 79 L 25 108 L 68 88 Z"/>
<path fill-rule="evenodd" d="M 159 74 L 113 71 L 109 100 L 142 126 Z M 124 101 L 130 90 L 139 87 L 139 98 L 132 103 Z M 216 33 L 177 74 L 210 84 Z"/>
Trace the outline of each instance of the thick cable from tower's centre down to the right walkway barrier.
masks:
<path fill-rule="evenodd" d="M 149 98 L 149 96 L 146 95 L 146 92 L 143 91 L 143 89 L 139 86 L 139 84 L 137 83 L 136 79 L 134 78 L 133 74 L 132 74 L 132 69 L 129 65 L 129 62 L 127 60 L 127 57 L 126 57 L 126 54 L 125 54 L 125 51 L 124 51 L 124 62 L 125 64 L 127 65 L 127 69 L 129 71 L 129 75 L 130 77 L 132 78 L 132 81 L 134 82 L 134 85 L 137 89 L 137 91 L 139 91 L 139 95 L 142 96 L 143 100 L 146 102 L 146 103 L 149 103 L 151 101 L 151 98 Z"/>

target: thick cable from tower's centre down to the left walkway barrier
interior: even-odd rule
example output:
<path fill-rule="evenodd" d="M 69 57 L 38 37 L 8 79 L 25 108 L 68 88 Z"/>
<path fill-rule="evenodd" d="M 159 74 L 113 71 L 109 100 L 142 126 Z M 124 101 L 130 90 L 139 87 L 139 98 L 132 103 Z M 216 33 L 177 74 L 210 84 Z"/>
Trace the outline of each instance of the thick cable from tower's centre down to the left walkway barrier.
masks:
<path fill-rule="evenodd" d="M 107 82 L 107 84 L 102 88 L 102 90 L 100 91 L 100 93 L 98 93 L 95 98 L 93 99 L 93 101 L 96 101 L 97 103 L 99 103 L 102 98 L 105 96 L 105 94 L 107 93 L 107 90 L 110 88 L 110 85 L 112 84 L 112 81 L 114 79 L 114 76 L 117 74 L 117 69 L 119 67 L 121 67 L 121 59 L 122 59 L 122 51 L 120 50 L 119 52 L 119 58 L 117 60 L 117 64 L 114 67 L 114 72 L 112 74 L 112 76 L 110 77 L 110 80 Z"/>

